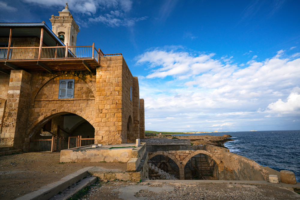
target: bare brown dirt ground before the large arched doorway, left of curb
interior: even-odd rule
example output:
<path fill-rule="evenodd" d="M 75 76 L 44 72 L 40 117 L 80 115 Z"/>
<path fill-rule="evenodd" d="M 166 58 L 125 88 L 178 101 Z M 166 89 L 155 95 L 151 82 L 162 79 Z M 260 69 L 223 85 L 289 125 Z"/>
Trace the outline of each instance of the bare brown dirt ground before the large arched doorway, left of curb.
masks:
<path fill-rule="evenodd" d="M 126 171 L 127 163 L 59 163 L 60 152 L 0 156 L 0 199 L 15 199 L 88 166 Z"/>

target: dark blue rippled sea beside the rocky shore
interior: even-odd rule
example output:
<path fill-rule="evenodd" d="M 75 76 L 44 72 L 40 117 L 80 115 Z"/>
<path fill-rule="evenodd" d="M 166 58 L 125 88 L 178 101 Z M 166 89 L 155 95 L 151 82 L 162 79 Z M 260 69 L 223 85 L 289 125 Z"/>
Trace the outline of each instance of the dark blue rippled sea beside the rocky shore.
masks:
<path fill-rule="evenodd" d="M 223 136 L 224 134 L 234 139 L 224 144 L 230 152 L 277 171 L 292 171 L 297 182 L 300 182 L 300 130 L 217 132 L 176 134 L 176 136 Z"/>

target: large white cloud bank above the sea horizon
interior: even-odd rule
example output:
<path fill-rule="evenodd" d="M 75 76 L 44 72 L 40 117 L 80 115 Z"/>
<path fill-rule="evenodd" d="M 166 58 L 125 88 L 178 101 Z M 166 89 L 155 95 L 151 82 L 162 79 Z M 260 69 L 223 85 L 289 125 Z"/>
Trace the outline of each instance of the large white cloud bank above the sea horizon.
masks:
<path fill-rule="evenodd" d="M 300 58 L 280 50 L 272 58 L 239 67 L 232 57 L 216 57 L 180 48 L 149 49 L 137 56 L 137 65 L 148 70 L 140 95 L 152 130 L 234 130 L 247 123 L 265 127 L 267 120 L 276 121 L 279 111 L 289 121 L 300 117 Z"/>

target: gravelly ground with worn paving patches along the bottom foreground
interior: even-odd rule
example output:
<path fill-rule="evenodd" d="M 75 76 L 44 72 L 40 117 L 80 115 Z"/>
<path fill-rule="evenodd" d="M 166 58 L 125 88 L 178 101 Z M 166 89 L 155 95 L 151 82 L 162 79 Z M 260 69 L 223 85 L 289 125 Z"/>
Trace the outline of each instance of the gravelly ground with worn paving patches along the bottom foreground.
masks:
<path fill-rule="evenodd" d="M 85 200 L 96 199 L 205 199 L 205 200 L 286 200 L 300 199 L 292 191 L 267 184 L 234 183 L 166 183 L 145 181 L 128 183 L 122 181 L 100 182 L 92 186 Z"/>

